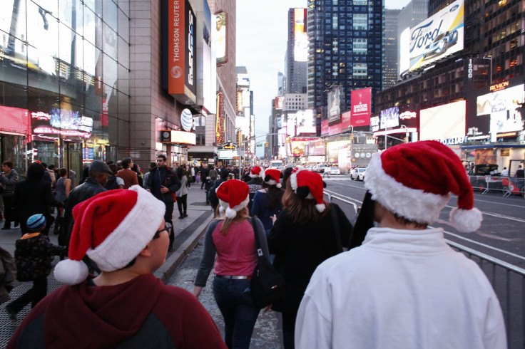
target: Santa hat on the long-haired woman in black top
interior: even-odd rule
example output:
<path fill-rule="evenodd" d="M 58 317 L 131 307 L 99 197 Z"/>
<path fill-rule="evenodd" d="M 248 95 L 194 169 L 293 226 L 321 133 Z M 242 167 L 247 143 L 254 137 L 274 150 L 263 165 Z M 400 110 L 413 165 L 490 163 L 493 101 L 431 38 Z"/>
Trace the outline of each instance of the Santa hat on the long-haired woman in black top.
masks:
<path fill-rule="evenodd" d="M 295 167 L 290 175 L 290 184 L 295 194 L 303 199 L 315 199 L 317 204 L 315 208 L 319 212 L 326 209 L 325 199 L 322 195 L 322 189 L 326 187 L 322 177 L 317 172 L 305 170 L 302 167 Z"/>

